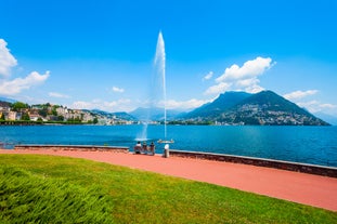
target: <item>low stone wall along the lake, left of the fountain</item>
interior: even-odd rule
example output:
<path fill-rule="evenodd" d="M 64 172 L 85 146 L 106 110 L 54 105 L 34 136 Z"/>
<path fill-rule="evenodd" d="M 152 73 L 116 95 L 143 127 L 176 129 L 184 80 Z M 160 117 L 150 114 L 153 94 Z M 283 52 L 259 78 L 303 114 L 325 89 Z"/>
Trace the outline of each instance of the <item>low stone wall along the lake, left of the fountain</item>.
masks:
<path fill-rule="evenodd" d="M 82 150 L 82 151 L 112 151 L 129 153 L 129 147 L 96 146 L 96 145 L 15 145 L 15 150 Z"/>

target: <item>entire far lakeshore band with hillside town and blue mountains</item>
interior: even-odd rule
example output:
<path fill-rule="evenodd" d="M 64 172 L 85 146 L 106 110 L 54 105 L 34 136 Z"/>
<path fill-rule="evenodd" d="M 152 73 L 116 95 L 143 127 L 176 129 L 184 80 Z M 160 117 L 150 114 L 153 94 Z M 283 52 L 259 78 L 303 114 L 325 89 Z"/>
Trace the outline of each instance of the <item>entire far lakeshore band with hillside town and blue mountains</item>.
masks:
<path fill-rule="evenodd" d="M 256 94 L 225 92 L 190 113 L 168 110 L 169 124 L 216 126 L 329 126 L 308 110 L 272 91 Z M 128 113 L 70 109 L 61 105 L 0 101 L 0 124 L 133 124 L 164 123 L 163 108 L 138 108 Z"/>

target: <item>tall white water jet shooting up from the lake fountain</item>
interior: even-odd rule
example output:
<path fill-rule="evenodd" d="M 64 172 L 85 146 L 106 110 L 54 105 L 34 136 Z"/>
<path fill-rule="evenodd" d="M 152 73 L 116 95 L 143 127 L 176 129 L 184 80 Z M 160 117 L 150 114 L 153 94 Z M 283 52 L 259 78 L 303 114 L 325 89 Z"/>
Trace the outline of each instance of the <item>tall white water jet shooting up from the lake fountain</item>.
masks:
<path fill-rule="evenodd" d="M 160 85 L 163 89 L 163 101 L 164 101 L 164 136 L 166 139 L 167 128 L 166 128 L 166 77 L 165 77 L 165 66 L 166 66 L 166 55 L 165 55 L 165 43 L 161 31 L 158 35 L 156 55 L 154 60 L 154 66 L 156 68 L 157 76 L 160 80 Z"/>

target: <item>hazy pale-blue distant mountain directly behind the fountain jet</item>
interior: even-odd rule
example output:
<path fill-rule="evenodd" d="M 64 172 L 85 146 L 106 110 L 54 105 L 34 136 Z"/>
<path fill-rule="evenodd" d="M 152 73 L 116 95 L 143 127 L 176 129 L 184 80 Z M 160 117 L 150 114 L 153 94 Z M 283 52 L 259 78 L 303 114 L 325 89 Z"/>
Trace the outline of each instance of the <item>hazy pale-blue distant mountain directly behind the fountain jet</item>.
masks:
<path fill-rule="evenodd" d="M 181 115 L 181 111 L 173 110 L 173 109 L 167 109 L 166 110 L 166 119 L 172 120 L 179 115 Z M 159 107 L 151 107 L 151 108 L 144 108 L 139 107 L 130 113 L 131 116 L 135 117 L 138 120 L 142 121 L 150 121 L 150 120 L 164 120 L 164 108 Z"/>

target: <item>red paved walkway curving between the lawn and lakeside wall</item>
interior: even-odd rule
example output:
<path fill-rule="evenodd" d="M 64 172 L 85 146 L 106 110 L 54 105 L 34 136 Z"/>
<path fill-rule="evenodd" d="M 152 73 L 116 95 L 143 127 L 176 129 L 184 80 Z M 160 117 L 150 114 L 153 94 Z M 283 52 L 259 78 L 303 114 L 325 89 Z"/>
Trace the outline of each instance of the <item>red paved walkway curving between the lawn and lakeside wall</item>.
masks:
<path fill-rule="evenodd" d="M 228 186 L 337 211 L 337 179 L 221 161 L 109 151 L 0 150 L 69 156 Z"/>

